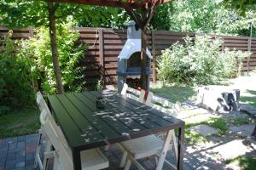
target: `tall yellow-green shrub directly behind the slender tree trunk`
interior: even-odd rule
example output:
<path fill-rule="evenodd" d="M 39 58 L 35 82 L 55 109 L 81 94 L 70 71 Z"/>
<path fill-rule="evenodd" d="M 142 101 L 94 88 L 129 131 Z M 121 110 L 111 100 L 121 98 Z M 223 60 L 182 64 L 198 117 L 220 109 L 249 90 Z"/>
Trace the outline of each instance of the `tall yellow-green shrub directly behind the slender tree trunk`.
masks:
<path fill-rule="evenodd" d="M 79 32 L 73 30 L 75 23 L 71 19 L 65 24 L 56 25 L 57 47 L 59 64 L 61 67 L 62 83 L 65 91 L 80 91 L 84 87 L 84 67 L 79 66 L 79 61 L 84 57 L 86 49 L 83 43 L 78 42 Z M 35 36 L 26 42 L 23 48 L 35 59 L 40 72 L 39 79 L 45 94 L 55 94 L 55 74 L 52 64 L 52 55 L 49 40 L 49 28 L 40 27 Z"/>

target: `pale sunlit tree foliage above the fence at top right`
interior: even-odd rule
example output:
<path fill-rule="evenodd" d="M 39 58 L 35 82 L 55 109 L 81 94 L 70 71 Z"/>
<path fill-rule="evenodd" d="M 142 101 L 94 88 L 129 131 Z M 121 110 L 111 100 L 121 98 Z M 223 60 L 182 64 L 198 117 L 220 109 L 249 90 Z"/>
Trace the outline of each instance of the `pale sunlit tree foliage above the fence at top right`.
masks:
<path fill-rule="evenodd" d="M 247 11 L 240 16 L 232 8 L 212 0 L 174 0 L 157 9 L 152 22 L 154 29 L 247 35 L 249 23 L 256 14 Z"/>

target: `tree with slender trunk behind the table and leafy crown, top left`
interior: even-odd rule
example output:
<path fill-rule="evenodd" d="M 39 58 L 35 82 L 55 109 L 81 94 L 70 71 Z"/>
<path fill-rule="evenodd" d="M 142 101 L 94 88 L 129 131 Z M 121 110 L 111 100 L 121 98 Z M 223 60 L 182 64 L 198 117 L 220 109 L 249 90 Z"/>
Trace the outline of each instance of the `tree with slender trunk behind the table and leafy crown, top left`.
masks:
<path fill-rule="evenodd" d="M 49 26 L 50 47 L 52 62 L 55 71 L 56 89 L 58 94 L 63 93 L 59 54 L 57 50 L 56 27 L 57 23 L 65 22 L 67 16 L 73 15 L 80 20 L 92 18 L 94 24 L 105 19 L 106 10 L 85 5 L 69 3 L 45 3 L 38 0 L 1 0 L 0 24 L 14 27 Z M 85 17 L 86 16 L 86 17 Z M 99 24 L 98 23 L 98 24 Z"/>

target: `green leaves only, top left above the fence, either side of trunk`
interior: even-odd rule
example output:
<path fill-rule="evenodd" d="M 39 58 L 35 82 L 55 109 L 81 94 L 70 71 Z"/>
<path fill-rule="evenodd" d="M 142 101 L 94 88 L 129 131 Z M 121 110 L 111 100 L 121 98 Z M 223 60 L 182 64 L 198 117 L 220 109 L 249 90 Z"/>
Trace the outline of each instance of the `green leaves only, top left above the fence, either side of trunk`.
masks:
<path fill-rule="evenodd" d="M 47 3 L 43 0 L 0 0 L 0 25 L 14 27 L 48 25 Z M 73 3 L 55 3 L 56 22 L 62 23 L 72 15 L 79 26 L 111 25 L 116 8 L 104 8 Z M 109 24 L 110 23 L 110 24 Z M 114 22 L 113 22 L 114 23 Z"/>

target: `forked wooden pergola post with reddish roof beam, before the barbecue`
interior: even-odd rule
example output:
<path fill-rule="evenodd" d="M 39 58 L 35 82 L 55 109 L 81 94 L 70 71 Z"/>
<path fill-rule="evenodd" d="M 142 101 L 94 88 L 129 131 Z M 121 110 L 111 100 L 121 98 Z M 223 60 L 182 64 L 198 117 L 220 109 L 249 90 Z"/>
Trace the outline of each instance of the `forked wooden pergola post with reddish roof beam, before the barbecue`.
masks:
<path fill-rule="evenodd" d="M 137 26 L 142 30 L 142 51 L 141 51 L 141 60 L 142 60 L 142 85 L 143 89 L 147 90 L 147 75 L 146 75 L 146 62 L 147 62 L 147 26 L 150 20 L 153 17 L 155 8 L 161 3 L 168 3 L 171 0 L 46 0 L 48 2 L 57 2 L 57 3 L 79 3 L 85 5 L 97 5 L 97 6 L 107 6 L 107 7 L 116 7 L 116 8 L 125 8 L 125 11 L 131 15 L 132 20 L 135 20 Z M 141 9 L 142 13 L 138 14 L 136 9 Z"/>

